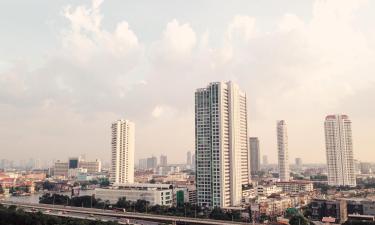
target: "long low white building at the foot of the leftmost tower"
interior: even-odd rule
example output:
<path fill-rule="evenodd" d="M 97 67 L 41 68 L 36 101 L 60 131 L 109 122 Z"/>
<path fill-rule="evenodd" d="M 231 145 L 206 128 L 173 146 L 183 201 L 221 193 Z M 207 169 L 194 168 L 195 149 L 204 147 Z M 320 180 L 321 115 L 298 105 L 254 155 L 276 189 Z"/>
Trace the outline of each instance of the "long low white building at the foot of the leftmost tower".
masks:
<path fill-rule="evenodd" d="M 95 197 L 116 204 L 119 198 L 136 202 L 146 200 L 150 205 L 172 206 L 173 193 L 169 184 L 122 184 L 112 188 L 96 188 Z"/>

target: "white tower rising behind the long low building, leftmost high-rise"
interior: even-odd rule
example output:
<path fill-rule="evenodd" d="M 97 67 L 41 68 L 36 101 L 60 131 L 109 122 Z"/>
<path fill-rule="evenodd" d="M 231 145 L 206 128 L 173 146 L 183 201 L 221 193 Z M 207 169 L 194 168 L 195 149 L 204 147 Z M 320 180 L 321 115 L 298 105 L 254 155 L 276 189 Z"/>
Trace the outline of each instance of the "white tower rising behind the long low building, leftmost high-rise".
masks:
<path fill-rule="evenodd" d="M 134 123 L 129 120 L 112 123 L 111 183 L 134 182 L 134 142 Z"/>

